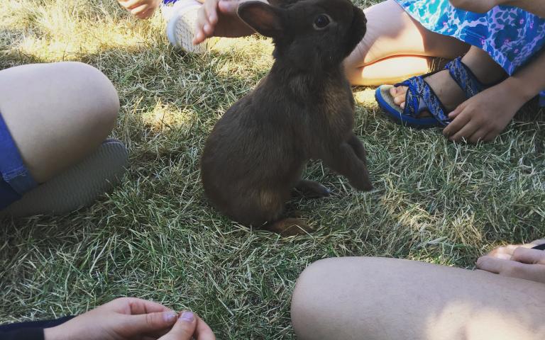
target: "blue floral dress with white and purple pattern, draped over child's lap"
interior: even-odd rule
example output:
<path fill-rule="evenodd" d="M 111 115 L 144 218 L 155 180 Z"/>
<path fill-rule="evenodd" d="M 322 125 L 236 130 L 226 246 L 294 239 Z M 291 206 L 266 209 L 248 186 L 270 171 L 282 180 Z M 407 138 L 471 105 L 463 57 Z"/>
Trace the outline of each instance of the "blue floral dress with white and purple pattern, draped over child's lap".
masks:
<path fill-rule="evenodd" d="M 545 19 L 520 8 L 496 6 L 473 13 L 447 0 L 395 1 L 425 28 L 485 50 L 510 75 L 544 50 Z M 545 106 L 545 90 L 540 103 Z"/>

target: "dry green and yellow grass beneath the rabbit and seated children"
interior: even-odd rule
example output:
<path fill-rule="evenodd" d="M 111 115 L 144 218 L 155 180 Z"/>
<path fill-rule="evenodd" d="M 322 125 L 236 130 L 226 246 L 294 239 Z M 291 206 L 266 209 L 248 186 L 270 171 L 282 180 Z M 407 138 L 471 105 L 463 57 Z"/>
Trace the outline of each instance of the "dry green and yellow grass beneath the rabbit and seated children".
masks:
<path fill-rule="evenodd" d="M 535 104 L 494 143 L 457 145 L 440 130 L 386 120 L 364 88 L 354 89 L 355 131 L 375 190 L 353 191 L 312 162 L 305 176 L 333 195 L 292 204 L 314 234 L 237 225 L 204 198 L 199 157 L 216 120 L 268 72 L 270 41 L 186 55 L 167 43 L 164 24 L 160 15 L 136 21 L 114 0 L 2 1 L 0 69 L 60 60 L 101 69 L 119 91 L 114 137 L 131 157 L 121 186 L 91 208 L 0 221 L 0 323 L 130 295 L 191 308 L 219 339 L 294 339 L 290 294 L 312 261 L 389 256 L 473 268 L 492 246 L 545 234 L 545 119 Z"/>

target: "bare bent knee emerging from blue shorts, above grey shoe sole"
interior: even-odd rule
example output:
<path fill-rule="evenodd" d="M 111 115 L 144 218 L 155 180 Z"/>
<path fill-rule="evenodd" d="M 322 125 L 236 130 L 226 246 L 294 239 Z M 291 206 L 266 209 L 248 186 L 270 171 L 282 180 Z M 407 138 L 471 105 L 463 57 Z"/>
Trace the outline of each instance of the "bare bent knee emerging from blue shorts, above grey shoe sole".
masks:
<path fill-rule="evenodd" d="M 114 86 L 87 64 L 30 64 L 0 71 L 0 114 L 38 183 L 97 149 L 118 111 Z"/>

